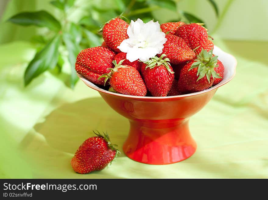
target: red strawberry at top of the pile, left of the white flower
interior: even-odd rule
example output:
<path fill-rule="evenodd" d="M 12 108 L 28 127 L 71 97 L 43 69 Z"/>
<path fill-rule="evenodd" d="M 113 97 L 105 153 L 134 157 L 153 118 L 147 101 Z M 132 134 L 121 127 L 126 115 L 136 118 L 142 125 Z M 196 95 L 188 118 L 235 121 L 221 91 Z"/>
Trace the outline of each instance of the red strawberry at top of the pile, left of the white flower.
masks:
<path fill-rule="evenodd" d="M 107 22 L 102 29 L 102 37 L 109 48 L 115 52 L 121 52 L 117 47 L 124 39 L 128 39 L 128 23 L 123 19 L 115 18 Z"/>

